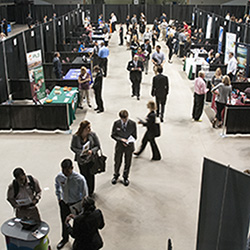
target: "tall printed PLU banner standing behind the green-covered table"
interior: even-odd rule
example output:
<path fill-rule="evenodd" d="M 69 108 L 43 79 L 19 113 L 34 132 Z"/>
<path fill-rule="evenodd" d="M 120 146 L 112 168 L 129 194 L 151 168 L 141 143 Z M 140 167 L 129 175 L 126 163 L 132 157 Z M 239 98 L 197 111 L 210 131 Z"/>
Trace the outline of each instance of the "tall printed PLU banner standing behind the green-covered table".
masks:
<path fill-rule="evenodd" d="M 31 94 L 33 98 L 41 100 L 46 97 L 41 50 L 27 53 L 27 63 Z"/>

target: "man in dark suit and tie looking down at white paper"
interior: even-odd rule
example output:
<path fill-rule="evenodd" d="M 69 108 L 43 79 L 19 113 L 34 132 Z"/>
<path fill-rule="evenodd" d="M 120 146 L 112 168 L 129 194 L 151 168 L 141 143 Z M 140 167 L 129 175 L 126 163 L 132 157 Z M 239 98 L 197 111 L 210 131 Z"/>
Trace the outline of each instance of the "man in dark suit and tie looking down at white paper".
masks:
<path fill-rule="evenodd" d="M 134 142 L 137 139 L 136 123 L 128 119 L 128 111 L 119 112 L 120 119 L 115 121 L 112 128 L 111 137 L 116 141 L 115 145 L 115 168 L 114 177 L 111 181 L 113 185 L 117 183 L 120 176 L 122 157 L 125 155 L 125 167 L 123 170 L 123 184 L 129 185 L 129 170 L 131 166 L 132 154 L 135 150 Z"/>

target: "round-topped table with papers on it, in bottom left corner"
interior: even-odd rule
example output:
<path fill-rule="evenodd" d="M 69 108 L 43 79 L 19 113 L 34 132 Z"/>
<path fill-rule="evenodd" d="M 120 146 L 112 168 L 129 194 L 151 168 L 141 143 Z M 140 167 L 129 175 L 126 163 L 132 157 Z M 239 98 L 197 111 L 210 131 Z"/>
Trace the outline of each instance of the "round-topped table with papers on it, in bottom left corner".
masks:
<path fill-rule="evenodd" d="M 8 250 L 48 250 L 49 249 L 49 225 L 46 222 L 38 222 L 36 225 L 25 229 L 21 219 L 12 218 L 4 222 L 1 232 L 5 236 Z"/>

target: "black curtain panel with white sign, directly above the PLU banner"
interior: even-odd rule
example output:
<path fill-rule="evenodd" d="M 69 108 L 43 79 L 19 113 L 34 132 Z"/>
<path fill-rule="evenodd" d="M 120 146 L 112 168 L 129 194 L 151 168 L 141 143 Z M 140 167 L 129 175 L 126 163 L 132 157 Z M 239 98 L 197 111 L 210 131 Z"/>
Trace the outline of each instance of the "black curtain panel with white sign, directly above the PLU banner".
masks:
<path fill-rule="evenodd" d="M 27 53 L 42 49 L 40 26 L 24 31 Z"/>

